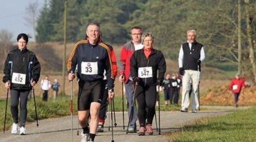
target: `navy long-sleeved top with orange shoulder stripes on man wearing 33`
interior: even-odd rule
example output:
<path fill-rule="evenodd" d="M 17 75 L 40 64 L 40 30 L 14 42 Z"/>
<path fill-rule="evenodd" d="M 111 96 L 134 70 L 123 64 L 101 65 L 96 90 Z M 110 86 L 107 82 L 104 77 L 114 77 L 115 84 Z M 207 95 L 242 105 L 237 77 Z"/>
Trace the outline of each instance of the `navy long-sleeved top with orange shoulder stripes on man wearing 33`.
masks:
<path fill-rule="evenodd" d="M 110 58 L 110 50 L 112 47 L 99 42 L 96 45 L 90 44 L 87 40 L 78 41 L 68 59 L 68 72 L 73 71 L 75 73 L 77 66 L 77 77 L 83 82 L 91 82 L 97 80 L 103 80 L 104 70 L 106 70 L 107 82 L 109 89 L 114 87 L 113 69 L 112 62 Z M 98 73 L 93 75 L 82 74 L 81 73 L 81 63 L 82 62 L 97 62 Z"/>

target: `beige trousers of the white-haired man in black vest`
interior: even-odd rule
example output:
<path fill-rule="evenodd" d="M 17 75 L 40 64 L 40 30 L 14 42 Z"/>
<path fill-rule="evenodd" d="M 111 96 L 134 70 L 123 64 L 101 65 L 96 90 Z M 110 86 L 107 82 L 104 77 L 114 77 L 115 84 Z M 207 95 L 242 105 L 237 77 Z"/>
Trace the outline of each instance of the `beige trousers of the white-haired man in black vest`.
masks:
<path fill-rule="evenodd" d="M 194 70 L 185 70 L 185 74 L 182 77 L 182 100 L 181 100 L 181 109 L 188 109 L 190 105 L 190 82 L 192 82 L 192 110 L 198 110 L 199 101 L 198 101 L 198 85 L 200 80 L 200 71 Z"/>

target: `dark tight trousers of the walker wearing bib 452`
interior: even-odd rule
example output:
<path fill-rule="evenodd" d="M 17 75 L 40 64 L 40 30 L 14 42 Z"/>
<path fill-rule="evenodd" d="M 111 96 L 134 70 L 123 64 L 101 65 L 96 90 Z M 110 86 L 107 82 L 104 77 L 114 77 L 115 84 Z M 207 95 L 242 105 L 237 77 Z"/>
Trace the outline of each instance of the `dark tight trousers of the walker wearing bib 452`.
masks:
<path fill-rule="evenodd" d="M 20 127 L 24 127 L 27 119 L 27 102 L 30 90 L 14 90 L 11 89 L 11 115 L 13 122 L 18 123 L 18 105 L 20 107 Z M 20 103 L 19 103 L 20 100 Z"/>

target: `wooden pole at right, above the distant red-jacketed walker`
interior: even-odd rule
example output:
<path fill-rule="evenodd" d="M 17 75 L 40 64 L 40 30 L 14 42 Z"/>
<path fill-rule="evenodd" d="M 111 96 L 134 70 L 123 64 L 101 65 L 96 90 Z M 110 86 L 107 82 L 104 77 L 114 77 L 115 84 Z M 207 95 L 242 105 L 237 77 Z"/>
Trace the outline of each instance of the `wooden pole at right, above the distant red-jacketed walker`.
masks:
<path fill-rule="evenodd" d="M 238 73 L 242 75 L 241 2 L 238 0 Z"/>

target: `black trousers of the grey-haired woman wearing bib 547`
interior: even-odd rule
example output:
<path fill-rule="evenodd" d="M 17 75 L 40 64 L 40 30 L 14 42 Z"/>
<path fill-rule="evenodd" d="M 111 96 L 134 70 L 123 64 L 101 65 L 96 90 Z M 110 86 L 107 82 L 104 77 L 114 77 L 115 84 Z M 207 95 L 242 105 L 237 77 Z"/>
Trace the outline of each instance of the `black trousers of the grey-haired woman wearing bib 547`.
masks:
<path fill-rule="evenodd" d="M 139 125 L 145 126 L 152 124 L 155 115 L 156 105 L 156 85 L 141 86 L 137 85 L 135 95 L 138 102 L 138 119 Z"/>

